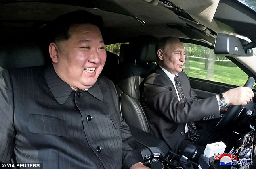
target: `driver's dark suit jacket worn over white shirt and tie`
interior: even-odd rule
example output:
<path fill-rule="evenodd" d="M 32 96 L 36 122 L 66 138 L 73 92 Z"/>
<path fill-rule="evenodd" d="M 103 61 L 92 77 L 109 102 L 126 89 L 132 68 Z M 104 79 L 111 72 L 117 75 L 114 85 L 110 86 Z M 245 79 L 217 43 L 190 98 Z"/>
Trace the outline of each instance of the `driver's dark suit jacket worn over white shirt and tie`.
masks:
<path fill-rule="evenodd" d="M 170 78 L 157 65 L 141 85 L 142 105 L 152 132 L 178 152 L 184 146 L 185 124 L 220 117 L 215 96 L 197 100 L 189 78 L 178 74 L 187 102 L 182 104 Z"/>

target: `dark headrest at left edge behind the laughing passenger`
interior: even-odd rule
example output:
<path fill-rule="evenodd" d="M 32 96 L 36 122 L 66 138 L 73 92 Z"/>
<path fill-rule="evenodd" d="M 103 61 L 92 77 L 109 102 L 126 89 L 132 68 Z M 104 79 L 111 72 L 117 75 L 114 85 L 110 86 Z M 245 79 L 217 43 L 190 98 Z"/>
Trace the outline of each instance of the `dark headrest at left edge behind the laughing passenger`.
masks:
<path fill-rule="evenodd" d="M 4 69 L 42 66 L 50 62 L 47 46 L 34 42 L 0 45 L 0 66 Z"/>

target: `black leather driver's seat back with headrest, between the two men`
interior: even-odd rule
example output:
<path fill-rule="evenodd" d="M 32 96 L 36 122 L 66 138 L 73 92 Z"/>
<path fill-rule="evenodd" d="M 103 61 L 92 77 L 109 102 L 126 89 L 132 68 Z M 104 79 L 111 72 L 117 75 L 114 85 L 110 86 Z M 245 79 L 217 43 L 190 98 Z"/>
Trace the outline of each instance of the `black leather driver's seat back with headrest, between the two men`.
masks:
<path fill-rule="evenodd" d="M 117 91 L 122 117 L 128 125 L 147 133 L 150 130 L 147 117 L 140 103 L 139 85 L 156 66 L 156 41 L 157 39 L 151 36 L 138 37 L 127 46 L 130 48 L 130 52 L 128 56 L 124 54 L 126 55 L 124 56 L 125 59 L 122 59 L 124 61 L 119 64 Z M 120 54 L 122 54 L 121 52 Z"/>

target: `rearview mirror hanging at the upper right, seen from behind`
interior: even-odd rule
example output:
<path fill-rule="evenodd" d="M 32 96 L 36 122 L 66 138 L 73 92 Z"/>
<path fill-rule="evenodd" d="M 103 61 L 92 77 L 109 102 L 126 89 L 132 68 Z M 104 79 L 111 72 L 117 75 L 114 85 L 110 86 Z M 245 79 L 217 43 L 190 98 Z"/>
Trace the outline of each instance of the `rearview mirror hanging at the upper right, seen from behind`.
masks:
<path fill-rule="evenodd" d="M 238 37 L 219 33 L 214 43 L 214 54 L 224 56 L 253 56 L 252 49 L 248 49 L 248 41 Z"/>

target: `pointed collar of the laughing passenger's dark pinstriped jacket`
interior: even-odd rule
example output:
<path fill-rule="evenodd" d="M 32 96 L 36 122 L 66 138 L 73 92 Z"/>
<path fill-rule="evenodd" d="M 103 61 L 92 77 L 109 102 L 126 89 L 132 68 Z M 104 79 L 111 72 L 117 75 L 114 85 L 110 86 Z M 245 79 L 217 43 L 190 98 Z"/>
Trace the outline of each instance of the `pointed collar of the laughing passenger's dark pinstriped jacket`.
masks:
<path fill-rule="evenodd" d="M 52 92 L 52 95 L 55 97 L 59 104 L 64 104 L 73 89 L 70 87 L 70 85 L 59 78 L 52 65 L 49 65 L 45 68 L 44 77 L 48 87 L 50 88 L 50 91 Z M 78 89 L 78 92 L 79 91 L 80 89 Z M 87 91 L 92 96 L 103 101 L 103 95 L 97 82 Z"/>

